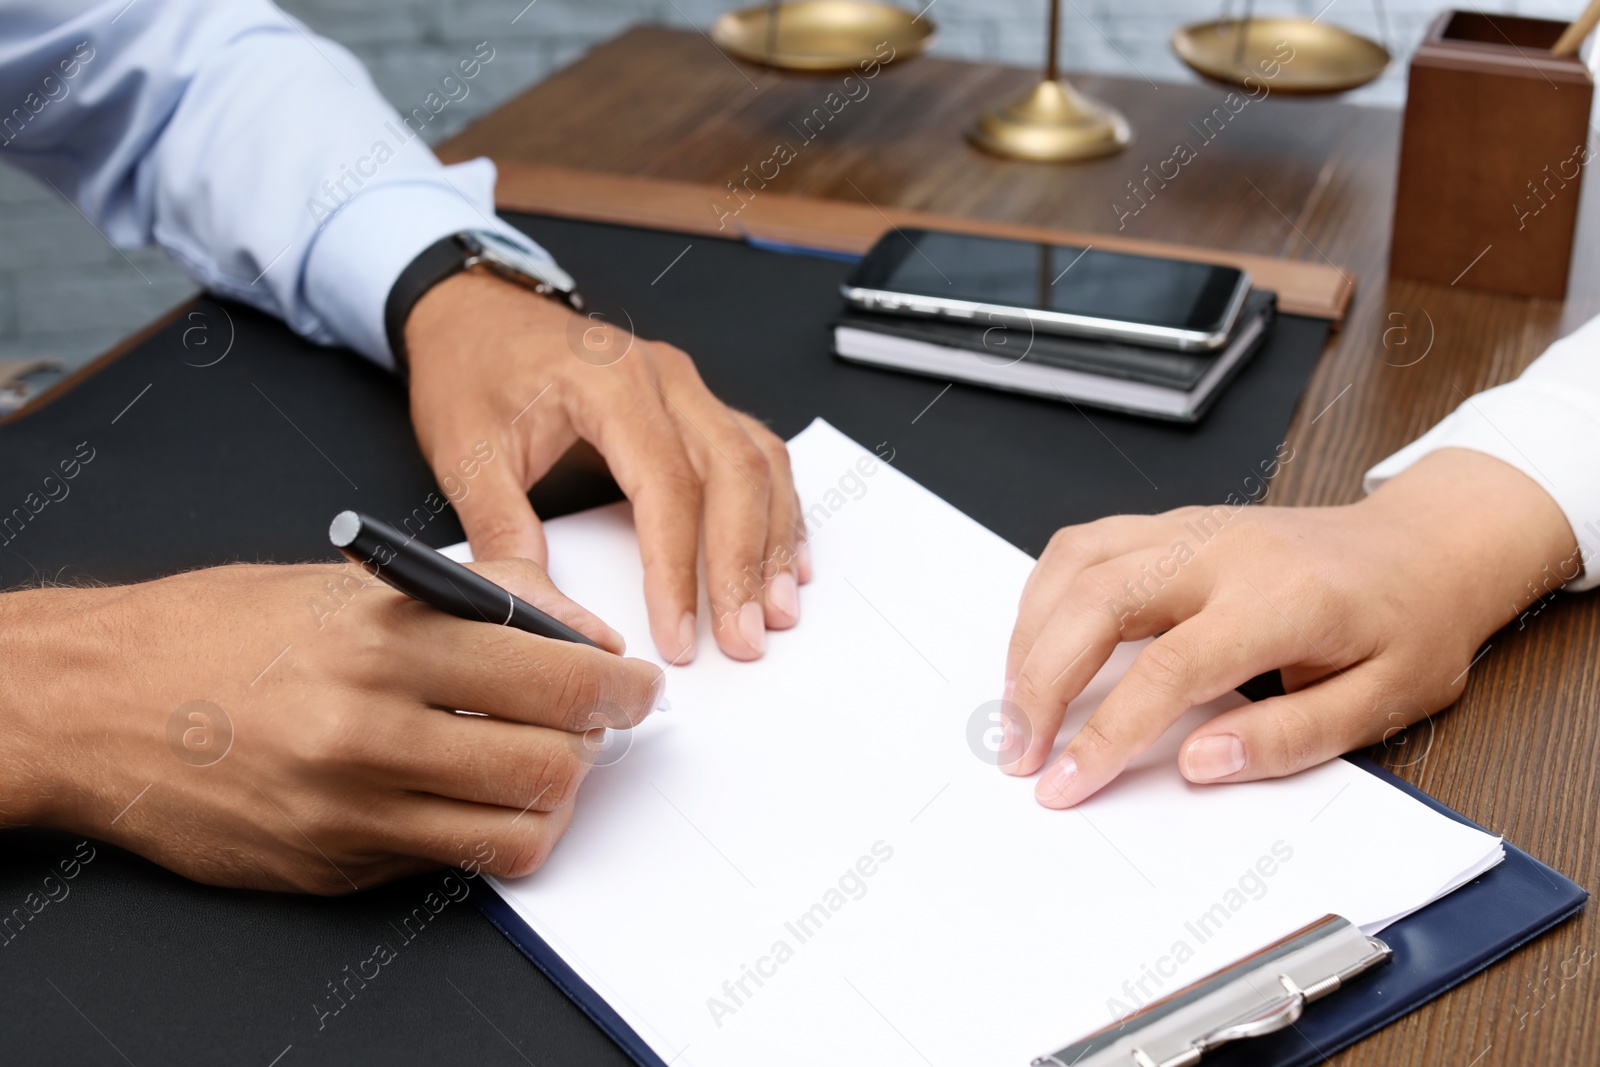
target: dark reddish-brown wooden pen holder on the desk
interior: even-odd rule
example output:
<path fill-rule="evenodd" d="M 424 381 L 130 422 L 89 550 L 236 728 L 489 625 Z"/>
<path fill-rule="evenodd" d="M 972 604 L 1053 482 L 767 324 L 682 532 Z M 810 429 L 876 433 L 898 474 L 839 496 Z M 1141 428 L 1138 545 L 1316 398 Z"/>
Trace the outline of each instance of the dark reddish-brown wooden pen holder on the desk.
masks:
<path fill-rule="evenodd" d="M 1443 11 L 1411 58 L 1389 274 L 1563 298 L 1594 80 L 1565 22 Z"/>

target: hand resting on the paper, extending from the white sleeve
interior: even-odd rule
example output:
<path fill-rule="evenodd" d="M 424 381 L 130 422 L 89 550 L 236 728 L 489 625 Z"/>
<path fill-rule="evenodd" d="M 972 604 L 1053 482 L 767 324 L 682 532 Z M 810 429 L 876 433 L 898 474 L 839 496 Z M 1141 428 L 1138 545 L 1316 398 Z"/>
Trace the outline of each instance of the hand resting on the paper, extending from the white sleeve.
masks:
<path fill-rule="evenodd" d="M 1120 641 L 1155 637 L 1045 768 L 1035 795 L 1070 808 L 1184 712 L 1280 670 L 1286 696 L 1218 715 L 1184 741 L 1194 782 L 1293 774 L 1445 707 L 1483 640 L 1581 571 L 1536 482 L 1442 450 L 1349 507 L 1186 507 L 1069 526 L 1022 592 L 1005 696 L 1027 739 L 1005 769 L 1050 757 L 1067 702 Z M 1158 637 L 1157 637 L 1158 635 Z"/>

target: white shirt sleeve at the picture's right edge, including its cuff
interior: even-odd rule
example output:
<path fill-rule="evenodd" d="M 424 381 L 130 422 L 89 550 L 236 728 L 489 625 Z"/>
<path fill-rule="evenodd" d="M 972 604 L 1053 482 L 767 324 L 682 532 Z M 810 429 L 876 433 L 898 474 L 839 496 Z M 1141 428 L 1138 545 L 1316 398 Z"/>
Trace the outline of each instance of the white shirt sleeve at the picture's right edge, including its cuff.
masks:
<path fill-rule="evenodd" d="M 1538 482 L 1578 539 L 1582 573 L 1566 589 L 1600 585 L 1600 318 L 1552 344 L 1517 381 L 1467 397 L 1368 470 L 1366 491 L 1440 448 L 1486 453 Z"/>

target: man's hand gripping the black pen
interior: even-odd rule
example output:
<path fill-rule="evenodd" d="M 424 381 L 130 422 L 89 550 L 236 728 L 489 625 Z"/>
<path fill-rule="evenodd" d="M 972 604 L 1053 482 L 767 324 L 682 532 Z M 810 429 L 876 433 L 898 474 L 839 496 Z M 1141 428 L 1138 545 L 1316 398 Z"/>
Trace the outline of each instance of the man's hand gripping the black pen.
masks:
<path fill-rule="evenodd" d="M 619 635 L 536 565 L 474 569 L 610 651 L 466 622 L 354 566 L 0 597 L 0 824 L 264 889 L 534 870 L 594 731 L 643 720 L 664 675 L 613 654 Z"/>

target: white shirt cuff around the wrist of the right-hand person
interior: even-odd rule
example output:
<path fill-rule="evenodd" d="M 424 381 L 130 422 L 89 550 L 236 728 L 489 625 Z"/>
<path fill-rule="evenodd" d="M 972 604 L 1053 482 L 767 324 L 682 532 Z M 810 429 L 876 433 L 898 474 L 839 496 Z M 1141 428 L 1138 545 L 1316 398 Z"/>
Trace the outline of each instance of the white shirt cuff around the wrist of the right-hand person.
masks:
<path fill-rule="evenodd" d="M 1570 392 L 1570 390 L 1568 390 Z M 1494 456 L 1539 483 L 1566 515 L 1578 558 L 1560 565 L 1570 592 L 1600 585 L 1600 413 L 1571 403 L 1555 382 L 1523 379 L 1469 397 L 1432 430 L 1366 472 L 1371 493 L 1440 448 Z"/>

